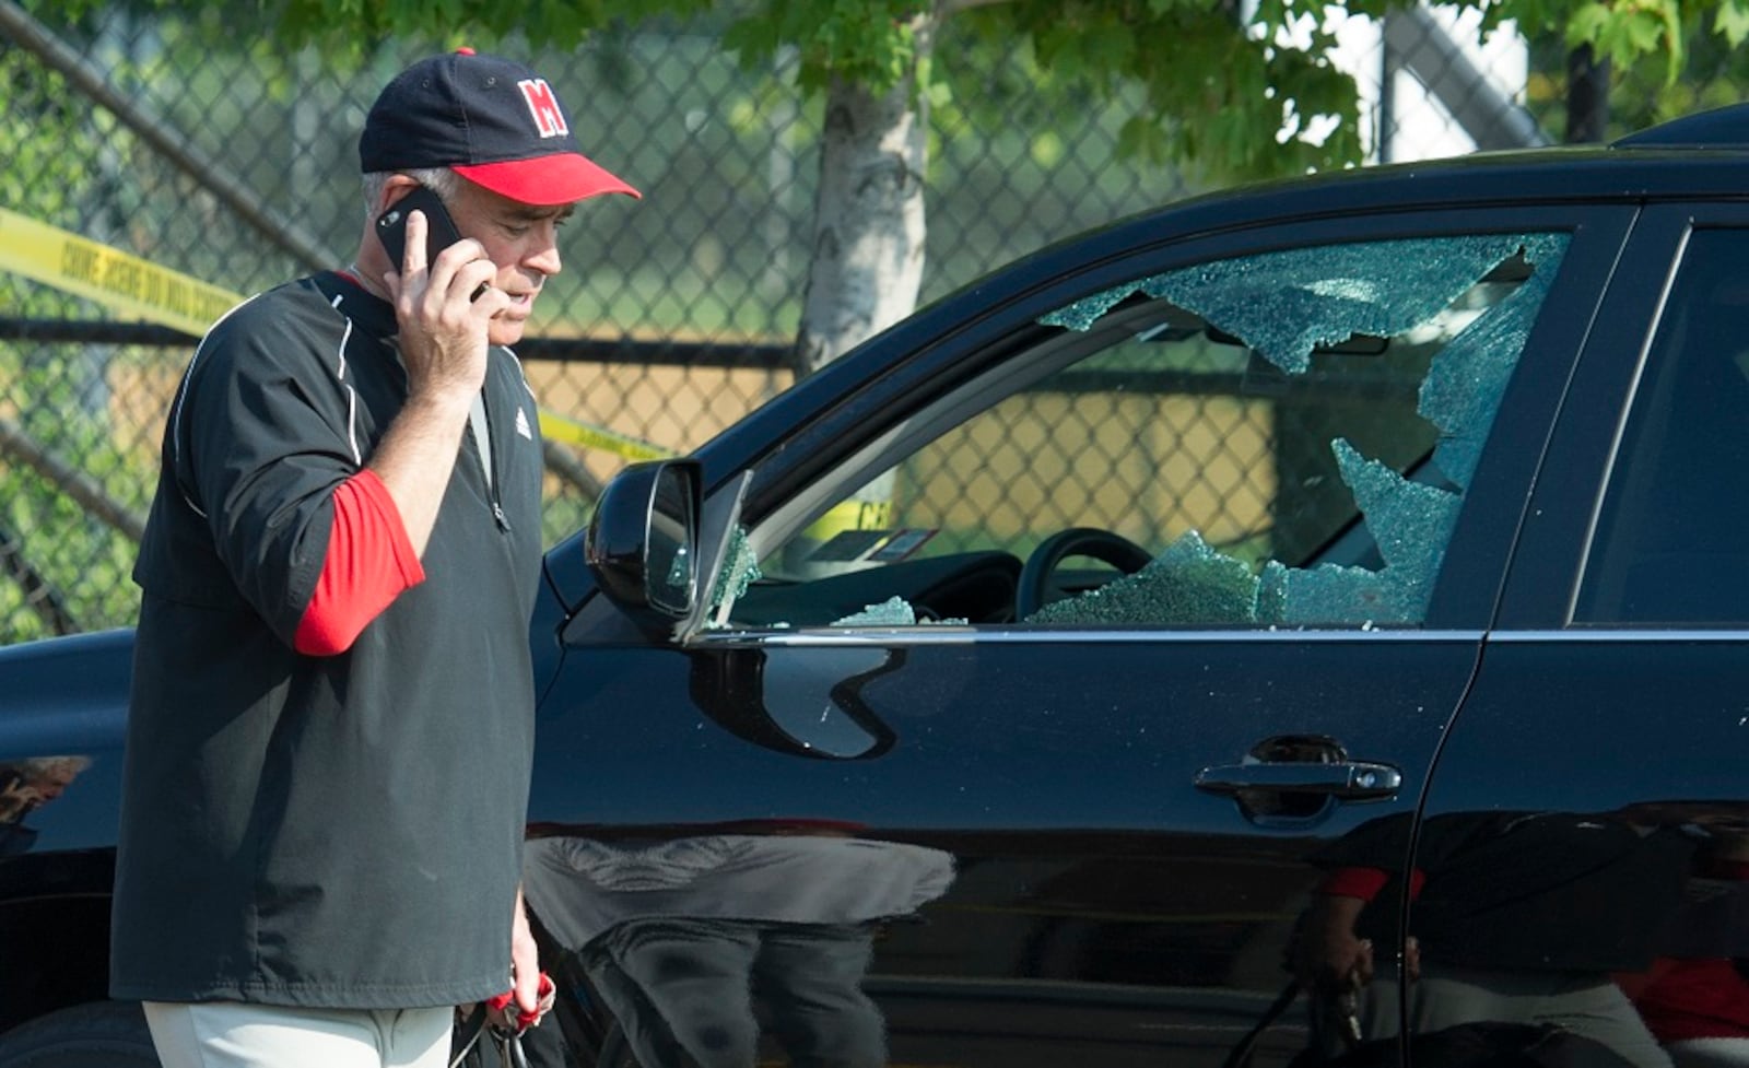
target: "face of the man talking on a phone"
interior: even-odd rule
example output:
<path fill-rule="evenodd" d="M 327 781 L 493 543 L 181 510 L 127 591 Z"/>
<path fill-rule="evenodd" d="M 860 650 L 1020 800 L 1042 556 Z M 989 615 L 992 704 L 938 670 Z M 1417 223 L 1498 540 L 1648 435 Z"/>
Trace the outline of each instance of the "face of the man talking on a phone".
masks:
<path fill-rule="evenodd" d="M 486 330 L 493 344 L 521 341 L 540 287 L 560 273 L 558 227 L 570 218 L 572 208 L 525 205 L 460 182 L 449 215 L 462 236 L 486 246 L 486 255 L 498 267 L 491 285 L 511 297 L 511 306 L 495 315 Z"/>

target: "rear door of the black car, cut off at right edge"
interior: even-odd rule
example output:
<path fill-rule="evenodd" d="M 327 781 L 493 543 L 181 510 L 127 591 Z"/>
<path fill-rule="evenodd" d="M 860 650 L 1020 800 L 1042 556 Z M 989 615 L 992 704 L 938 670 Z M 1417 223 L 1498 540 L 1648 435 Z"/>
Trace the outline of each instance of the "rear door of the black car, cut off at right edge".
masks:
<path fill-rule="evenodd" d="M 1429 788 L 1410 1023 L 1669 1065 L 1749 1037 L 1749 212 L 1649 208 L 1606 308 Z"/>

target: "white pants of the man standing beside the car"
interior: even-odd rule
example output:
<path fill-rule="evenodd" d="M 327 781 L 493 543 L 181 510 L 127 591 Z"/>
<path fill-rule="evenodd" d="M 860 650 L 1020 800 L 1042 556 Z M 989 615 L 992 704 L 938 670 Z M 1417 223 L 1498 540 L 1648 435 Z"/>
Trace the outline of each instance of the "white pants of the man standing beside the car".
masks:
<path fill-rule="evenodd" d="M 448 1068 L 455 1009 L 147 1002 L 164 1068 Z"/>

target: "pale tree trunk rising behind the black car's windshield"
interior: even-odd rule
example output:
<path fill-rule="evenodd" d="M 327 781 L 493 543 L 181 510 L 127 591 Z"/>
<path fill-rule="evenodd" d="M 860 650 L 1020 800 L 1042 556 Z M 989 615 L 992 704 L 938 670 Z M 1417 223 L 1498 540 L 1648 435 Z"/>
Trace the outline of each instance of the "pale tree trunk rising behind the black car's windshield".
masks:
<path fill-rule="evenodd" d="M 922 58 L 929 35 L 918 31 L 916 40 Z M 927 154 L 922 100 L 913 79 L 881 96 L 843 80 L 831 86 L 798 374 L 819 371 L 916 308 Z"/>

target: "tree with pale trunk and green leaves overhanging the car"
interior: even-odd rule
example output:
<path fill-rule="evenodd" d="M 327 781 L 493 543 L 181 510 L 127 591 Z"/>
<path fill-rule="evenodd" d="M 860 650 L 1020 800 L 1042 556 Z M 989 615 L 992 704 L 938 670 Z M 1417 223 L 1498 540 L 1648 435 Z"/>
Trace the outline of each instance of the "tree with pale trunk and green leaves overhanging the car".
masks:
<path fill-rule="evenodd" d="M 47 0 L 38 0 L 47 2 Z M 136 0 L 150 5 L 152 0 Z M 164 3 L 166 0 L 157 0 Z M 1401 0 L 233 0 L 282 45 L 362 56 L 369 42 L 418 35 L 574 47 L 591 31 L 661 16 L 712 17 L 749 66 L 794 56 L 798 84 L 826 101 L 812 266 L 798 371 L 836 358 L 911 311 L 923 273 L 929 107 L 958 93 L 976 107 L 967 56 L 934 52 L 941 28 L 1027 42 L 1039 91 L 1111 98 L 1139 89 L 1123 149 L 1216 178 L 1352 166 L 1359 94 L 1331 52 L 1333 14 L 1382 16 Z M 91 7 L 94 0 L 86 0 Z M 1735 47 L 1749 0 L 1460 0 L 1485 28 L 1515 19 L 1560 35 L 1620 75 L 1663 65 L 1674 82 L 1695 26 Z M 234 19 L 226 19 L 234 23 Z"/>

